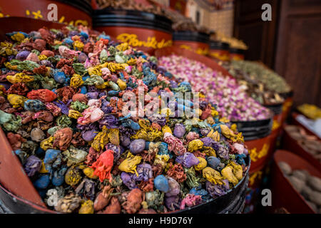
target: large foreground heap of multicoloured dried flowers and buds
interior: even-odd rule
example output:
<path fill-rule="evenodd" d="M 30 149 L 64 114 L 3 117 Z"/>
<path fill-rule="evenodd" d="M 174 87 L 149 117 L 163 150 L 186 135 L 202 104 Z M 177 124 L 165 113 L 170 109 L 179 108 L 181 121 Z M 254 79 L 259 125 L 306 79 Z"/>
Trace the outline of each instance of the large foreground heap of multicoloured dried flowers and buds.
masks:
<path fill-rule="evenodd" d="M 178 115 L 180 100 L 173 111 L 168 103 L 153 115 L 123 113 L 136 107 L 128 93 L 142 92 L 143 107 L 153 110 L 163 95 L 191 92 L 155 57 L 84 27 L 8 38 L 1 43 L 0 124 L 12 149 L 1 153 L 1 168 L 10 169 L 4 160 L 13 150 L 50 209 L 192 212 L 215 202 L 228 207 L 225 195 L 233 200 L 247 185 L 242 133 L 205 97 L 191 116 Z M 0 174 L 6 187 L 7 177 Z"/>

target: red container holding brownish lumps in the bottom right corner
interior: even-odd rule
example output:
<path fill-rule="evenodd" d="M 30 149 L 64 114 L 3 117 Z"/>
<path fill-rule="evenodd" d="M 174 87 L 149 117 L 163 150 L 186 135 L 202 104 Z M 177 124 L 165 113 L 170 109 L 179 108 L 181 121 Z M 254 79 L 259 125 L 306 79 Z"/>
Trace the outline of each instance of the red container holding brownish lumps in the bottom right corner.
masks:
<path fill-rule="evenodd" d="M 272 166 L 272 207 L 291 214 L 320 213 L 320 170 L 286 150 L 277 150 Z M 286 197 L 285 197 L 286 195 Z"/>

